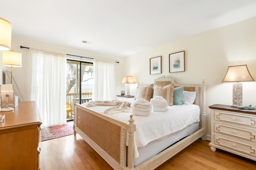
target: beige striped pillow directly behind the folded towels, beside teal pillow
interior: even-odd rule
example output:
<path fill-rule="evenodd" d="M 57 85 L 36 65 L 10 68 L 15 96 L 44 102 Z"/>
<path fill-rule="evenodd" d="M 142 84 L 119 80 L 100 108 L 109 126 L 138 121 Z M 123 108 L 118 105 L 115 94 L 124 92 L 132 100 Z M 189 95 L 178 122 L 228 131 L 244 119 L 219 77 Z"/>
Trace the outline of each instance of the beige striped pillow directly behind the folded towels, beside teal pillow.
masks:
<path fill-rule="evenodd" d="M 174 89 L 173 83 L 167 86 L 160 86 L 155 84 L 154 97 L 162 96 L 167 101 L 168 106 L 172 106 L 173 105 L 173 89 Z"/>

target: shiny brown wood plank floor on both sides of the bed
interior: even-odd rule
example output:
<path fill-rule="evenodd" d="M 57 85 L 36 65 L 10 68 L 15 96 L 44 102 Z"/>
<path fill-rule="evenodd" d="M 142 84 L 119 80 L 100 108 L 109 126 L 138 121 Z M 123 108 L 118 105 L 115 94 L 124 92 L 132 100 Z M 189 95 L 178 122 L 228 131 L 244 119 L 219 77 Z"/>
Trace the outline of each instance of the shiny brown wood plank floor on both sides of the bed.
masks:
<path fill-rule="evenodd" d="M 156 170 L 256 170 L 256 161 L 217 149 L 198 139 Z M 40 143 L 41 170 L 112 170 L 80 137 L 69 135 Z"/>

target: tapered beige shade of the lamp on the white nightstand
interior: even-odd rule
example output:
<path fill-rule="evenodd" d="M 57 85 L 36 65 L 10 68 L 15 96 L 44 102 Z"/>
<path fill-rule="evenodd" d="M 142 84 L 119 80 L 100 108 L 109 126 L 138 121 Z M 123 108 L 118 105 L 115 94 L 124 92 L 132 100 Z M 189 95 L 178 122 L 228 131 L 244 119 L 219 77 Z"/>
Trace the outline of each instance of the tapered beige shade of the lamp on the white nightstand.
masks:
<path fill-rule="evenodd" d="M 222 82 L 252 82 L 252 78 L 247 65 L 228 66 L 228 71 Z"/>

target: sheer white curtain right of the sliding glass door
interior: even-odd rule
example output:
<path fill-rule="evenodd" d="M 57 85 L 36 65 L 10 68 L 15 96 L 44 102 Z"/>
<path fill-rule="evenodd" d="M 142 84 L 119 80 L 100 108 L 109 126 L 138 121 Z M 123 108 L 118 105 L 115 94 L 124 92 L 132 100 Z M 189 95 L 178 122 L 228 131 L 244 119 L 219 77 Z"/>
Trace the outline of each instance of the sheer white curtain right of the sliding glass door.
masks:
<path fill-rule="evenodd" d="M 95 60 L 93 62 L 92 100 L 115 99 L 115 62 Z"/>

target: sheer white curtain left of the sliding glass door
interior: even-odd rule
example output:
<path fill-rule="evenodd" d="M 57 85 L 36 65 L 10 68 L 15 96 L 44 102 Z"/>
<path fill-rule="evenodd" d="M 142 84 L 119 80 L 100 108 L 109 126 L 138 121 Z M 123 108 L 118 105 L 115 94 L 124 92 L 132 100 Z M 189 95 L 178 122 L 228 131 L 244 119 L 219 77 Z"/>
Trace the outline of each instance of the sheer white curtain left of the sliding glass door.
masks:
<path fill-rule="evenodd" d="M 30 100 L 36 101 L 42 126 L 66 123 L 66 55 L 29 50 Z"/>

